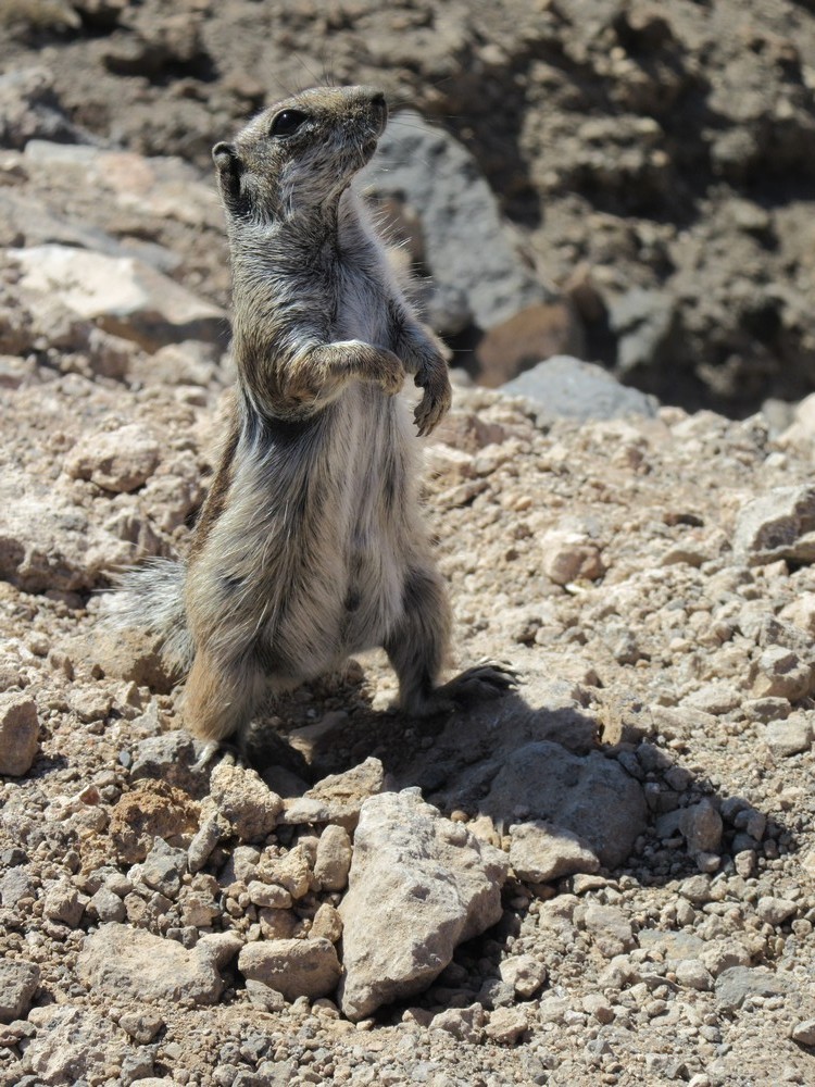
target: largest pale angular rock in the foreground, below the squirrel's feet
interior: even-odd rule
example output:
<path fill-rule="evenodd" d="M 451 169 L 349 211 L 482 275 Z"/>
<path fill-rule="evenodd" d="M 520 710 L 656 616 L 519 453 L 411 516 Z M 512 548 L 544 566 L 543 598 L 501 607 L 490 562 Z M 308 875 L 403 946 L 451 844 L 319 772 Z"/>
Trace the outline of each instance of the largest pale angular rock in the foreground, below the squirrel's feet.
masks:
<path fill-rule="evenodd" d="M 418 789 L 362 805 L 343 923 L 342 1011 L 360 1020 L 424 989 L 462 940 L 501 916 L 506 859 Z"/>

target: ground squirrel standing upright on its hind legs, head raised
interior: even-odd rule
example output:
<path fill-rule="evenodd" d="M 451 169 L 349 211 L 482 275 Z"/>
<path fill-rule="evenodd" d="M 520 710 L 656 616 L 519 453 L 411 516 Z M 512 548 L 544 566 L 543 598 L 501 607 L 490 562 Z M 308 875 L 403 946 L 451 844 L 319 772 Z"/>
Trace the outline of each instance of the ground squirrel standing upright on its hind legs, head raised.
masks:
<path fill-rule="evenodd" d="M 124 578 L 131 614 L 188 673 L 184 721 L 208 755 L 240 744 L 268 689 L 365 649 L 385 648 L 410 715 L 514 684 L 491 663 L 439 682 L 451 616 L 419 515 L 416 432 L 450 407 L 447 363 L 350 188 L 387 116 L 378 90 L 322 87 L 213 148 L 235 400 L 187 562 Z M 406 375 L 424 390 L 413 422 L 397 395 Z"/>

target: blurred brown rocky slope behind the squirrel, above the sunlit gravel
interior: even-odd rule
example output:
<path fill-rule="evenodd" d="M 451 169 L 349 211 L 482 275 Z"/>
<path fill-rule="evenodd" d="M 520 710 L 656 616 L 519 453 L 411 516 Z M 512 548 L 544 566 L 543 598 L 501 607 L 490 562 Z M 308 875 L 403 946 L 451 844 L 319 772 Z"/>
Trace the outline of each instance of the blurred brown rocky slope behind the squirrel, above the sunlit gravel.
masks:
<path fill-rule="evenodd" d="M 367 184 L 478 380 L 567 353 L 737 416 L 813 387 L 808 3 L 4 0 L 0 23 L 4 246 L 137 254 L 224 305 L 213 142 L 375 83 L 437 126 L 397 121 Z"/>

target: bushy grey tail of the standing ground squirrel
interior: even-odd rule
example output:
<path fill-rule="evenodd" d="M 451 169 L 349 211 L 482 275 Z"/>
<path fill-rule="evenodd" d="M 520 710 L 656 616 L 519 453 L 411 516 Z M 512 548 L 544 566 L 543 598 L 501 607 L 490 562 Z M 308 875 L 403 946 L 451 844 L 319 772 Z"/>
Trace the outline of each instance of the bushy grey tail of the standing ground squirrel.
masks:
<path fill-rule="evenodd" d="M 105 625 L 114 629 L 140 629 L 162 640 L 162 655 L 173 669 L 186 673 L 196 649 L 184 607 L 186 563 L 177 559 L 149 559 L 137 570 L 116 578 L 109 598 Z"/>

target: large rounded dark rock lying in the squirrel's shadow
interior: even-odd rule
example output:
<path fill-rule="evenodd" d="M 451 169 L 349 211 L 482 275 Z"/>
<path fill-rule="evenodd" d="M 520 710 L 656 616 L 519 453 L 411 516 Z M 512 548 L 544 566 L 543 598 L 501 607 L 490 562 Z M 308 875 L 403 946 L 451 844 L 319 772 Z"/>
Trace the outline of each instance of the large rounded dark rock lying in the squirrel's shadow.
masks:
<path fill-rule="evenodd" d="M 481 810 L 494 821 L 544 820 L 570 830 L 606 867 L 622 864 L 645 827 L 640 785 L 595 751 L 575 755 L 559 744 L 526 744 L 496 776 Z"/>

